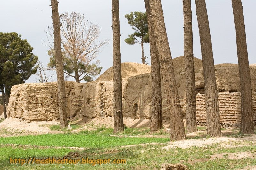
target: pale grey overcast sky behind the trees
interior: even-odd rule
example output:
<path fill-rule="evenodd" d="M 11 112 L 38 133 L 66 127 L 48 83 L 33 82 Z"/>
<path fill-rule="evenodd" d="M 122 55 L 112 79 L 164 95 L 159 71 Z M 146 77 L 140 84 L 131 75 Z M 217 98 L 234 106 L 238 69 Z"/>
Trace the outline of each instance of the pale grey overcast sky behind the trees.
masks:
<path fill-rule="evenodd" d="M 199 31 L 196 19 L 195 1 L 192 2 L 194 56 L 201 57 Z M 120 0 L 120 32 L 121 32 L 121 62 L 141 61 L 141 46 L 128 45 L 124 39 L 133 33 L 127 19 L 124 17 L 132 11 L 145 11 L 143 0 Z M 255 0 L 242 0 L 244 21 L 248 46 L 249 63 L 256 63 L 256 19 L 252 6 Z M 27 39 L 34 48 L 33 53 L 38 56 L 44 66 L 49 62 L 47 41 L 48 26 L 52 26 L 52 10 L 50 0 L 1 0 L 0 32 L 17 32 L 22 39 Z M 238 63 L 236 51 L 236 34 L 231 0 L 206 0 L 212 37 L 214 64 Z M 184 23 L 182 0 L 162 0 L 166 31 L 172 53 L 172 58 L 184 55 Z M 101 74 L 113 65 L 112 62 L 112 13 L 111 0 L 59 0 L 59 13 L 79 12 L 86 15 L 86 20 L 98 23 L 101 28 L 100 39 L 110 39 L 97 56 Z M 149 44 L 145 45 L 146 62 L 150 64 Z M 75 81 L 69 78 L 70 81 Z M 37 77 L 32 75 L 26 82 L 33 83 Z M 56 81 L 56 75 L 52 78 Z"/>

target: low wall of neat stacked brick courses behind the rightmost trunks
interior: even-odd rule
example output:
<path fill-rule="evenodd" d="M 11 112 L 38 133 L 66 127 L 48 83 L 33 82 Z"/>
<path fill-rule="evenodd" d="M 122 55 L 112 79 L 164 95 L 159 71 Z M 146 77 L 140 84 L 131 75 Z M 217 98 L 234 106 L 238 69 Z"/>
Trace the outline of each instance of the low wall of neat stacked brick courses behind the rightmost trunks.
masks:
<path fill-rule="evenodd" d="M 220 123 L 240 124 L 241 122 L 241 93 L 218 93 Z M 253 117 L 256 121 L 256 93 L 252 93 Z M 199 122 L 206 122 L 205 96 L 196 95 L 196 119 Z"/>

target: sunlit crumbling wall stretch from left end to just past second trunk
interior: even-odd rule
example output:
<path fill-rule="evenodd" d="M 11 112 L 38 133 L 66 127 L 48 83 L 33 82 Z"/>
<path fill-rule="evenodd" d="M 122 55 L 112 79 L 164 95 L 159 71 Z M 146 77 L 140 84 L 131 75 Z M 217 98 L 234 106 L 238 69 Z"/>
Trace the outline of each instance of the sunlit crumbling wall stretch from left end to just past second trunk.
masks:
<path fill-rule="evenodd" d="M 126 87 L 126 81 L 122 83 L 123 87 Z M 65 90 L 67 117 L 113 116 L 113 81 L 88 83 L 66 81 Z M 26 83 L 13 86 L 7 116 L 26 121 L 58 119 L 57 83 Z"/>

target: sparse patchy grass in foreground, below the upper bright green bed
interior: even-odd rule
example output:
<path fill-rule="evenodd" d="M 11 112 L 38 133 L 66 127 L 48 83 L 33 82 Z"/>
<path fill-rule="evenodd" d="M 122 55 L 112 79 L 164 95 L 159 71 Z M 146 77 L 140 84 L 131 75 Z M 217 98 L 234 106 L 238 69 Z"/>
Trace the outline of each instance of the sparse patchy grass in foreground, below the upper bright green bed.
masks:
<path fill-rule="evenodd" d="M 102 132 L 103 133 L 103 132 Z M 102 135 L 104 136 L 104 135 Z M 100 136 L 100 137 L 102 137 Z M 75 137 L 75 136 L 74 136 Z M 129 138 L 125 138 L 129 140 Z M 78 141 L 79 138 L 76 138 Z M 104 142 L 104 138 L 103 141 Z M 114 141 L 115 144 L 115 140 Z M 248 141 L 244 141 L 248 142 Z M 245 144 L 234 143 L 234 145 Z M 233 144 L 233 143 L 232 143 Z M 124 143 L 123 143 L 124 145 Z M 159 144 L 159 145 L 137 145 L 133 147 L 127 148 L 88 148 L 82 151 L 77 151 L 81 157 L 88 157 L 90 159 L 116 159 L 122 158 L 127 160 L 127 164 L 125 165 L 25 165 L 21 166 L 11 166 L 7 163 L 4 165 L 4 169 L 160 169 L 162 164 L 176 164 L 181 163 L 188 166 L 189 169 L 202 169 L 202 170 L 210 170 L 210 169 L 236 169 L 243 168 L 248 165 L 256 165 L 256 159 L 238 159 L 231 160 L 227 159 L 227 157 L 223 157 L 222 159 L 210 159 L 211 155 L 215 153 L 236 153 L 236 152 L 248 152 L 255 151 L 256 146 L 243 146 L 243 147 L 234 147 L 234 148 L 223 148 L 222 144 L 213 144 L 208 145 L 207 149 L 191 147 L 187 149 L 169 149 L 162 150 L 159 149 L 162 146 L 167 144 Z M 9 151 L 10 149 L 10 151 Z M 42 151 L 42 152 L 41 152 Z M 143 152 L 142 152 L 143 151 Z M 68 150 L 65 149 L 26 149 L 26 151 L 22 151 L 20 148 L 10 148 L 4 147 L 4 149 L 0 150 L 1 153 L 4 152 L 3 156 L 0 156 L 1 162 L 8 161 L 10 155 L 15 157 L 64 157 L 68 154 Z M 74 151 L 72 151 L 74 152 Z M 195 161 L 194 161 L 195 160 Z"/>

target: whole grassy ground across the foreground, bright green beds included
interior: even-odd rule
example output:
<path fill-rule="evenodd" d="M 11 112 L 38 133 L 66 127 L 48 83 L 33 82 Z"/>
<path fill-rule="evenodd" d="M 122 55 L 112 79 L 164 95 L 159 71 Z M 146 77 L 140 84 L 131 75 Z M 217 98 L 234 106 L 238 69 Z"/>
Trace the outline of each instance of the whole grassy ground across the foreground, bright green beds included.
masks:
<path fill-rule="evenodd" d="M 95 131 L 80 131 L 76 134 L 70 132 L 61 134 L 46 134 L 37 136 L 19 136 L 0 138 L 0 169 L 160 169 L 162 164 L 184 164 L 189 169 L 237 169 L 248 165 L 256 165 L 255 157 L 231 159 L 230 156 L 240 153 L 256 154 L 256 145 L 251 141 L 228 141 L 224 143 L 207 145 L 205 148 L 191 147 L 163 150 L 168 145 L 168 137 L 144 137 L 148 128 L 127 128 L 120 136 L 111 136 L 111 128 L 99 128 Z M 164 132 L 158 132 L 157 135 Z M 141 137 L 122 137 L 133 135 Z M 202 137 L 201 137 L 202 138 Z M 157 144 L 136 145 L 157 142 Z M 55 146 L 63 146 L 55 148 Z M 121 147 L 133 145 L 130 147 Z M 43 146 L 43 147 L 42 147 Z M 79 150 L 69 147 L 83 147 Z M 90 158 L 90 159 L 126 159 L 122 165 L 106 164 L 95 165 L 10 165 L 12 158 Z"/>

